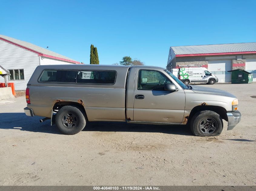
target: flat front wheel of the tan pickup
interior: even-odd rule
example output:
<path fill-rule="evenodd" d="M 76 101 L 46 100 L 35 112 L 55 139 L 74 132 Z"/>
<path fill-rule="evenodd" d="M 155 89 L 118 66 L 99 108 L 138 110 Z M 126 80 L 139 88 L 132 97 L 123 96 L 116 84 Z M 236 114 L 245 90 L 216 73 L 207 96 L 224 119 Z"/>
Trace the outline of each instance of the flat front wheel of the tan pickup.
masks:
<path fill-rule="evenodd" d="M 218 136 L 222 132 L 223 122 L 214 111 L 199 111 L 192 117 L 190 128 L 195 136 Z"/>

